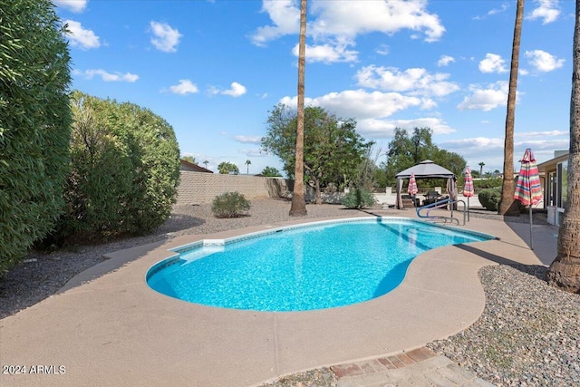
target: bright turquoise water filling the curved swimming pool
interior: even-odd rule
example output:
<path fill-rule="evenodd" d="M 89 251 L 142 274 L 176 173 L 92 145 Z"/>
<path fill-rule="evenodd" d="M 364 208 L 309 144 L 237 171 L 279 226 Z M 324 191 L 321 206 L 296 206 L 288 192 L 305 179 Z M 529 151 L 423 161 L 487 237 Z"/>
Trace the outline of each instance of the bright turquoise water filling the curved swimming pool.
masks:
<path fill-rule="evenodd" d="M 390 292 L 411 260 L 431 248 L 491 238 L 408 219 L 326 222 L 182 251 L 151 267 L 147 282 L 203 305 L 324 309 Z"/>

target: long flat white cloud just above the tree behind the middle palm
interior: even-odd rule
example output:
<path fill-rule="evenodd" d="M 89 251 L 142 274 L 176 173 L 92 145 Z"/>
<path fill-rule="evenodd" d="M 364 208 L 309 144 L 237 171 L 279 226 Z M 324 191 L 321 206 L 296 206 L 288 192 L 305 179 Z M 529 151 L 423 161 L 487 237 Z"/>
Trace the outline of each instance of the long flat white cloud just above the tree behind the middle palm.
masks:
<path fill-rule="evenodd" d="M 296 107 L 296 97 L 284 97 L 280 102 Z M 339 117 L 353 117 L 356 120 L 389 117 L 397 111 L 420 107 L 421 103 L 423 101 L 420 98 L 408 97 L 398 92 L 364 90 L 331 92 L 321 97 L 304 99 L 305 105 L 321 106 Z"/>

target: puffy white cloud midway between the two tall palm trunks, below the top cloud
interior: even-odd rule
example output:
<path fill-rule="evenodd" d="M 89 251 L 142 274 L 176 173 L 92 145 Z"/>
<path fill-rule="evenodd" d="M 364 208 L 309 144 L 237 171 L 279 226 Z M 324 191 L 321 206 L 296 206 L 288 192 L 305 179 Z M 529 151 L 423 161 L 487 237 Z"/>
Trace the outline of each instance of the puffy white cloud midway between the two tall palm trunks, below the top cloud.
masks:
<path fill-rule="evenodd" d="M 422 68 L 401 72 L 395 67 L 362 67 L 355 78 L 363 87 L 389 92 L 409 92 L 411 95 L 442 97 L 457 92 L 457 83 L 448 82 L 448 73 L 428 73 Z"/>

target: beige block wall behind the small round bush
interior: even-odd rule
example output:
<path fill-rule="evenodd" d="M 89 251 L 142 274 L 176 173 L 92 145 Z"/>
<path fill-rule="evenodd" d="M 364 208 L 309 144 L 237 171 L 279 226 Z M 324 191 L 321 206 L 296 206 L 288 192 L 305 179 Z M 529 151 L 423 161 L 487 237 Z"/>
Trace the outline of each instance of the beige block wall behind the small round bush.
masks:
<path fill-rule="evenodd" d="M 211 203 L 218 195 L 237 191 L 245 198 L 288 198 L 289 182 L 282 178 L 181 170 L 178 205 Z"/>

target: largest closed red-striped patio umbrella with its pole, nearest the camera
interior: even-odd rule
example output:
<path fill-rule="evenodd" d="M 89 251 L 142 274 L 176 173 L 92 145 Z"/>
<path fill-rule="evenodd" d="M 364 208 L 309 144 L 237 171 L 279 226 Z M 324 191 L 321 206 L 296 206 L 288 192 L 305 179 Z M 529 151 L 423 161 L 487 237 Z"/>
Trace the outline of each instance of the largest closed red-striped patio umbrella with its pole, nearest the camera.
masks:
<path fill-rule="evenodd" d="M 520 160 L 522 163 L 517 176 L 516 192 L 514 198 L 519 200 L 524 206 L 529 206 L 529 247 L 534 249 L 534 240 L 532 239 L 532 206 L 542 200 L 542 185 L 540 184 L 540 175 L 536 166 L 536 158 L 531 149 L 527 149 L 524 157 Z"/>

